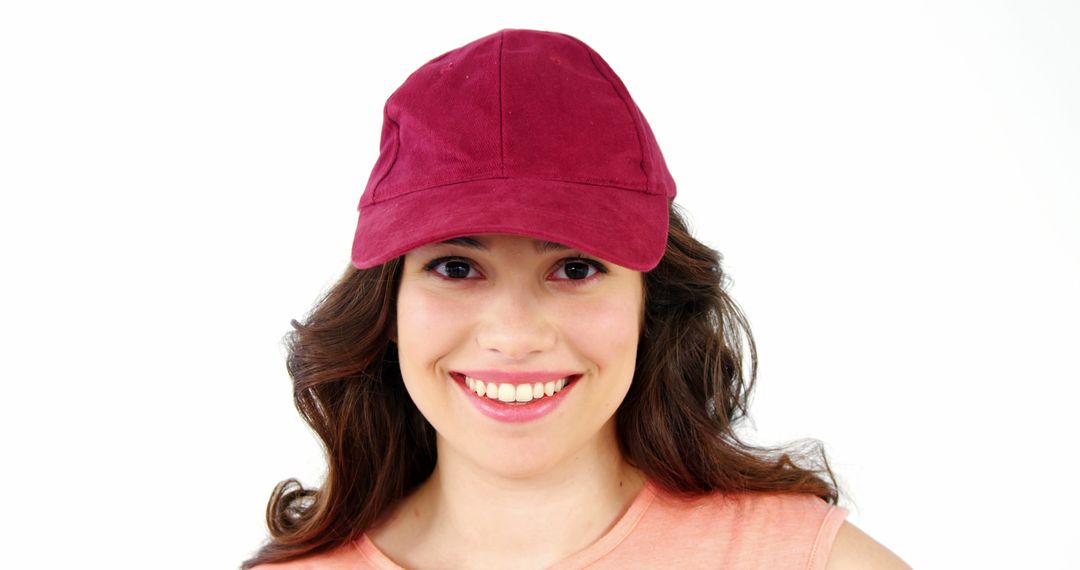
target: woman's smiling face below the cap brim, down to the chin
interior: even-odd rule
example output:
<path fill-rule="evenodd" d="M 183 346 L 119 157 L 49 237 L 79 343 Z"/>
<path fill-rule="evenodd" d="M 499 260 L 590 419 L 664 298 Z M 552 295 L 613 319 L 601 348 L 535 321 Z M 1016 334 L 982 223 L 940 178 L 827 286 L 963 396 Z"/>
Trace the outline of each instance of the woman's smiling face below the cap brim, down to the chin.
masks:
<path fill-rule="evenodd" d="M 527 476 L 610 452 L 643 302 L 642 273 L 551 242 L 477 235 L 408 253 L 397 352 L 440 462 Z"/>

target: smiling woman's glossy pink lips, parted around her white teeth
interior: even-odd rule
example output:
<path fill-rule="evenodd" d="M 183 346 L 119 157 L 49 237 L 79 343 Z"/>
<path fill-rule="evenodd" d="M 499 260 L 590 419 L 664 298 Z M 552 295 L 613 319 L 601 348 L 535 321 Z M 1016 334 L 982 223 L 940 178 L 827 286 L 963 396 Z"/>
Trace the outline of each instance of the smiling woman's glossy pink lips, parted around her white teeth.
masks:
<path fill-rule="evenodd" d="M 523 384 L 526 382 L 540 382 L 540 381 L 551 381 L 557 380 L 559 378 L 569 377 L 568 383 L 563 386 L 563 390 L 556 392 L 551 396 L 544 396 L 539 399 L 534 399 L 531 402 L 525 403 L 513 403 L 509 404 L 505 402 L 500 402 L 497 399 L 491 399 L 486 396 L 478 396 L 469 386 L 465 385 L 464 376 L 468 375 L 473 378 L 478 378 L 481 380 L 494 380 L 503 383 L 515 383 Z M 475 375 L 475 376 L 473 376 Z M 569 395 L 570 391 L 578 385 L 578 379 L 581 375 L 578 372 L 570 371 L 550 371 L 543 370 L 538 372 L 503 372 L 499 370 L 460 370 L 451 374 L 451 377 L 457 383 L 465 398 L 476 407 L 481 413 L 498 420 L 500 422 L 507 423 L 524 423 L 530 422 L 543 418 L 544 416 L 551 413 L 557 408 L 563 401 Z"/>

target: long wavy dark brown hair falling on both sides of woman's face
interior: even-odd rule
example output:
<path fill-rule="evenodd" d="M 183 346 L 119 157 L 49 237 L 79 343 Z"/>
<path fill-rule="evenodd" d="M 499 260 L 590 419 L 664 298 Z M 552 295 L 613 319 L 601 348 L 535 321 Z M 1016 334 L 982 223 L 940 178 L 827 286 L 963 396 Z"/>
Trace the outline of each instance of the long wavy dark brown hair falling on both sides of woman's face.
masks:
<path fill-rule="evenodd" d="M 318 489 L 293 478 L 274 487 L 270 540 L 242 568 L 359 539 L 432 473 L 435 432 L 405 391 L 391 341 L 401 267 L 350 266 L 303 323 L 292 322 L 293 396 L 325 447 L 326 476 Z M 625 460 L 669 492 L 809 493 L 836 504 L 820 442 L 755 447 L 734 433 L 754 389 L 754 338 L 725 290 L 719 253 L 690 235 L 675 204 L 663 259 L 644 283 L 637 364 L 616 411 Z"/>

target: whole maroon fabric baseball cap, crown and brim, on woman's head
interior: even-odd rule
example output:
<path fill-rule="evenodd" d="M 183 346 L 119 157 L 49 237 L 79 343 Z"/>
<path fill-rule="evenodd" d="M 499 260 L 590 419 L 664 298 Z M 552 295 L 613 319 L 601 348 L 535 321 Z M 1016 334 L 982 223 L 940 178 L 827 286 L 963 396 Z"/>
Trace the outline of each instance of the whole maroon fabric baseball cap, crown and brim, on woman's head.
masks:
<path fill-rule="evenodd" d="M 649 124 L 596 52 L 503 29 L 428 62 L 387 100 L 352 263 L 511 233 L 648 271 L 674 196 Z"/>

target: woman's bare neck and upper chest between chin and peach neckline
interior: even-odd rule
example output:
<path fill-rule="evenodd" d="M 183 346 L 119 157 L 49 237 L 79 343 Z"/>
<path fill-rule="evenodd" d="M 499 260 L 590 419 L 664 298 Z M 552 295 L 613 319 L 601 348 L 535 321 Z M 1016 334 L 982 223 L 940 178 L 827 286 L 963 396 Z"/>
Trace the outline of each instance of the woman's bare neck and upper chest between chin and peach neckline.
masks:
<path fill-rule="evenodd" d="M 611 437 L 597 438 L 597 449 L 515 477 L 445 452 L 440 440 L 435 471 L 388 525 L 397 532 L 369 534 L 406 567 L 551 566 L 610 530 L 645 483 L 619 452 L 613 424 L 608 428 Z"/>

